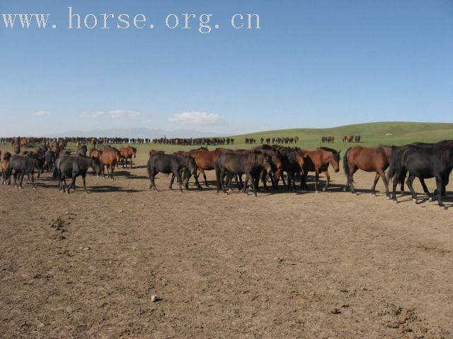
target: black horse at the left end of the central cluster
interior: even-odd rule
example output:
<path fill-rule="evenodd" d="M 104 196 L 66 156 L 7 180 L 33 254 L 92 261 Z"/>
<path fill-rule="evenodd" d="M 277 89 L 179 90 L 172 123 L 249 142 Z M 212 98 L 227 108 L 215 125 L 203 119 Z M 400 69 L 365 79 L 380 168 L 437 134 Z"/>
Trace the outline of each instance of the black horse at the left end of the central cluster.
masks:
<path fill-rule="evenodd" d="M 193 162 L 193 159 L 179 154 L 156 153 L 154 155 L 151 155 L 147 163 L 147 170 L 150 181 L 149 189 L 155 189 L 157 191 L 154 177 L 156 177 L 156 174 L 158 174 L 159 172 L 162 172 L 166 174 L 173 173 L 174 176 L 171 178 L 169 189 L 173 190 L 173 181 L 176 177 L 178 178 L 179 189 L 182 192 L 183 179 L 180 174 L 181 169 L 185 169 L 185 171 L 189 173 L 193 172 L 193 170 L 195 169 L 195 163 Z M 185 189 L 187 190 L 189 189 L 188 178 L 189 175 L 187 175 L 187 182 L 185 182 Z"/>

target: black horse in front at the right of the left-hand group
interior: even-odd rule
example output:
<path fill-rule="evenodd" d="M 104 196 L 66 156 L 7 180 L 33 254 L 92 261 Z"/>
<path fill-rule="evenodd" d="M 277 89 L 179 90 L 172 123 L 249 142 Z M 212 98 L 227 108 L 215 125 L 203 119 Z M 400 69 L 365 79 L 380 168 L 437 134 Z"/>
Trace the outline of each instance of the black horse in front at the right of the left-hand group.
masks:
<path fill-rule="evenodd" d="M 96 174 L 99 176 L 102 173 L 101 162 L 97 157 L 86 157 L 84 155 L 59 155 L 55 161 L 54 167 L 54 178 L 58 179 L 58 188 L 60 191 L 66 191 L 69 194 L 69 190 L 72 188 L 76 189 L 76 177 L 81 176 L 84 184 L 84 190 L 86 191 L 86 172 L 88 168 L 92 167 Z M 71 178 L 71 185 L 68 186 L 66 178 Z"/>

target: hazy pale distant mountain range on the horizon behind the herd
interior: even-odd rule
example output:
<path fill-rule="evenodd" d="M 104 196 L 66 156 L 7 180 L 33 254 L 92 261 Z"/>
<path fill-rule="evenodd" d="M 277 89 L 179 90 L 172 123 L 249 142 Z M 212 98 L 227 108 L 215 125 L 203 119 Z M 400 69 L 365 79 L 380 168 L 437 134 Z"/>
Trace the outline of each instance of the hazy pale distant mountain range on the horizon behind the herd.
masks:
<path fill-rule="evenodd" d="M 224 136 L 226 136 L 225 134 Z M 91 131 L 67 131 L 64 133 L 49 134 L 49 138 L 59 138 L 64 136 L 81 136 L 95 138 L 99 137 L 118 137 L 118 138 L 202 138 L 204 136 L 222 136 L 214 132 L 200 132 L 193 129 L 178 129 L 175 131 L 166 131 L 164 129 L 94 129 Z"/>

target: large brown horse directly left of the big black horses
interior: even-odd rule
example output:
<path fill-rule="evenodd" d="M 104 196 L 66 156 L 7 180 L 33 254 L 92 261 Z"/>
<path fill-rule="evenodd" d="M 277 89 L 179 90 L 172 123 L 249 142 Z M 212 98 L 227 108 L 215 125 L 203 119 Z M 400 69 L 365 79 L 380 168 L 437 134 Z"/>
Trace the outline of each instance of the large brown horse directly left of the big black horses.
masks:
<path fill-rule="evenodd" d="M 377 146 L 377 147 L 362 147 L 354 146 L 349 148 L 343 157 L 343 169 L 346 175 L 346 186 L 344 191 L 351 190 L 352 194 L 357 195 L 352 183 L 354 182 L 352 176 L 357 169 L 362 169 L 365 172 L 376 172 L 374 177 L 373 186 L 371 188 L 372 195 L 376 196 L 376 184 L 379 177 L 382 178 L 385 186 L 385 194 L 390 198 L 389 182 L 385 176 L 385 170 L 389 167 L 391 161 L 391 147 L 390 146 Z"/>

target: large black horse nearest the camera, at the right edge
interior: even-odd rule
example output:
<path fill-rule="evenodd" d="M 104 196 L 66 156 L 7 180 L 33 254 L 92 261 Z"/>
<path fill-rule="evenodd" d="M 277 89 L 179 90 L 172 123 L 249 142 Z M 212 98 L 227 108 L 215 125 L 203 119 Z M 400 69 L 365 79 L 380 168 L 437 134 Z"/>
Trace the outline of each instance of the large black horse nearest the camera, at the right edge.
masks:
<path fill-rule="evenodd" d="M 449 176 L 453 168 L 453 145 L 436 144 L 432 146 L 424 145 L 405 145 L 402 147 L 393 147 L 391 149 L 391 162 L 389 168 L 389 178 L 395 178 L 393 182 L 394 203 L 396 199 L 396 185 L 402 174 L 409 173 L 407 184 L 411 190 L 412 199 L 417 203 L 417 194 L 415 193 L 412 183 L 415 177 L 428 179 L 434 177 L 437 186 L 437 203 L 442 210 L 447 209 L 442 203 L 442 188 L 445 178 Z M 432 196 L 430 191 L 425 189 L 425 194 Z"/>

